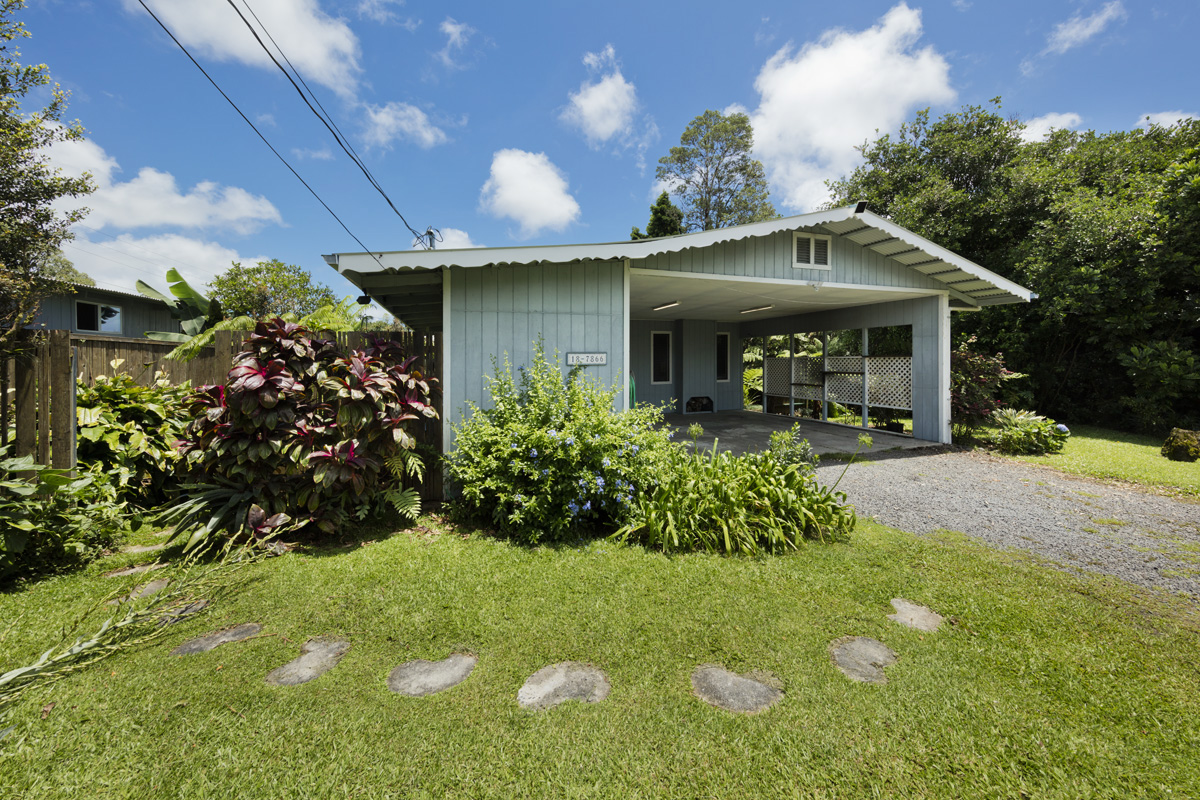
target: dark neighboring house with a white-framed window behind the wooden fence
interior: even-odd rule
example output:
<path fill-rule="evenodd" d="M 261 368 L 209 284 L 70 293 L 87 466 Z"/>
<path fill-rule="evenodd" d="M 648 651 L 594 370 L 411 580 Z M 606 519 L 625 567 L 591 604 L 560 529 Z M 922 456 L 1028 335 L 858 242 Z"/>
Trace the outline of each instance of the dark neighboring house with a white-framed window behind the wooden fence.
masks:
<path fill-rule="evenodd" d="M 42 300 L 32 327 L 138 339 L 146 331 L 182 332 L 170 307 L 161 300 L 83 284 L 76 284 L 76 294 Z"/>

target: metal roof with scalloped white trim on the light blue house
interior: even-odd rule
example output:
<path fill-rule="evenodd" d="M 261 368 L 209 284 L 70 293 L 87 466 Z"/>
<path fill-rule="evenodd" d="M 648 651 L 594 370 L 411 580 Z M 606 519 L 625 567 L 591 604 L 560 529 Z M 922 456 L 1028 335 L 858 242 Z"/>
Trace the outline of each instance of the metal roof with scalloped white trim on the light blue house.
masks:
<path fill-rule="evenodd" d="M 373 253 L 335 253 L 325 261 L 362 287 L 372 275 L 419 272 L 450 266 L 480 267 L 505 264 L 569 264 L 581 260 L 642 259 L 662 253 L 710 247 L 725 241 L 821 227 L 899 264 L 943 283 L 952 296 L 971 306 L 1028 302 L 1037 295 L 1025 287 L 986 270 L 974 261 L 936 245 L 924 236 L 872 213 L 847 205 L 733 228 L 678 236 L 593 245 L 542 245 L 533 247 L 479 247 L 470 249 L 418 249 Z M 367 281 L 370 282 L 370 279 Z"/>

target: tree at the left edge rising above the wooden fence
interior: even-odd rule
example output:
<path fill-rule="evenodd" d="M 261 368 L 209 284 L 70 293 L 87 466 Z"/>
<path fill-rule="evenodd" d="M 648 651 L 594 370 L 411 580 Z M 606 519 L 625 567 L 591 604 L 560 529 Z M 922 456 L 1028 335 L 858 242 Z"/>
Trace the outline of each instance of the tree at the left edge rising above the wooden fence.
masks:
<path fill-rule="evenodd" d="M 89 175 L 65 178 L 48 162 L 52 144 L 83 138 L 78 122 L 61 122 L 66 92 L 54 85 L 44 108 L 28 113 L 22 108 L 26 95 L 50 83 L 44 64 L 19 61 L 16 42 L 28 38 L 29 31 L 13 16 L 24 6 L 24 0 L 0 0 L 0 353 L 5 354 L 17 349 L 47 295 L 73 291 L 53 257 L 86 211 L 62 212 L 54 201 L 95 188 Z"/>

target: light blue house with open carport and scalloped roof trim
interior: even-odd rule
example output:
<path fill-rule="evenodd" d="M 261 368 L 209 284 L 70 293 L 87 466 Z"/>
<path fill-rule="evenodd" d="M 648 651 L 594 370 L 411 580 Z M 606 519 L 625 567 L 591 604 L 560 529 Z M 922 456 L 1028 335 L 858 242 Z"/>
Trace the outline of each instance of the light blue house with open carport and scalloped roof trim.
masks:
<path fill-rule="evenodd" d="M 640 241 L 325 260 L 415 330 L 440 332 L 448 451 L 464 403 L 488 403 L 492 357 L 526 365 L 539 336 L 564 367 L 588 363 L 626 389 L 632 378 L 637 402 L 686 413 L 742 408 L 743 337 L 892 325 L 912 326 L 913 435 L 948 443 L 950 312 L 1036 296 L 865 204 Z"/>

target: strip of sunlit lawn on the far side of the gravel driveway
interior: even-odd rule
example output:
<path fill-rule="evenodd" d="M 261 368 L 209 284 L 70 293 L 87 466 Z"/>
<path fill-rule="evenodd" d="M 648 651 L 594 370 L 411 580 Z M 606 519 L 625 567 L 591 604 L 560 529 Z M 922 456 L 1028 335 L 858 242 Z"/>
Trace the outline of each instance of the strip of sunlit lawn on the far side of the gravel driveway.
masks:
<path fill-rule="evenodd" d="M 1054 467 L 1064 473 L 1116 479 L 1156 486 L 1172 493 L 1200 497 L 1200 462 L 1169 461 L 1159 452 L 1163 440 L 1136 433 L 1121 433 L 1088 425 L 1070 426 L 1070 438 L 1061 453 L 1015 456 L 1031 464 Z"/>

